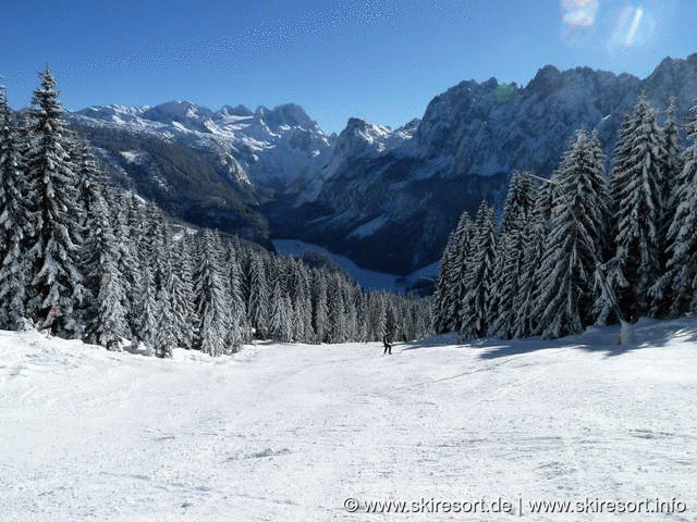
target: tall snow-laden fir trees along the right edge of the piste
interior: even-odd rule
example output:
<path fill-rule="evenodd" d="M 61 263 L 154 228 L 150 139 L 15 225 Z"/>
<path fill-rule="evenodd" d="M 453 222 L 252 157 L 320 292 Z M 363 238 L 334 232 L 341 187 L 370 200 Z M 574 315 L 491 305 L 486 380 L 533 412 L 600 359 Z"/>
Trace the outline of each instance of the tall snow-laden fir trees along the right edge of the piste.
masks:
<path fill-rule="evenodd" d="M 622 122 L 610 175 L 578 129 L 549 181 L 514 172 L 500 225 L 482 201 L 450 235 L 435 328 L 464 338 L 561 337 L 591 324 L 697 311 L 697 108 L 681 139 L 645 96 Z"/>

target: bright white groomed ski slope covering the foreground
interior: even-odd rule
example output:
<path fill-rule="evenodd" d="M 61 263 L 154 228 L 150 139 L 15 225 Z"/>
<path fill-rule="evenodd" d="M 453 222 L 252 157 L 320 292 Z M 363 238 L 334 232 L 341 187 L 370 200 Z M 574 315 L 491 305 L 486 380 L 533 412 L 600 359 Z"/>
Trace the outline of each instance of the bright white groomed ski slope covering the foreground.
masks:
<path fill-rule="evenodd" d="M 2 332 L 0 520 L 697 520 L 697 321 L 616 336 L 157 360 Z"/>

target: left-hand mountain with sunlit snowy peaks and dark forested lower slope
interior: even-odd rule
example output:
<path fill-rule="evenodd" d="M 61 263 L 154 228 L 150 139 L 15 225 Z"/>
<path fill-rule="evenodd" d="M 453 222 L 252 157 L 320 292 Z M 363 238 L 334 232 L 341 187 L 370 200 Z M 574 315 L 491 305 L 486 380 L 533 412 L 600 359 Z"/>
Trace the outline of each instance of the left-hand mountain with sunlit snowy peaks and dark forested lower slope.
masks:
<path fill-rule="evenodd" d="M 213 112 L 172 101 L 93 107 L 68 117 L 124 185 L 186 221 L 267 245 L 259 207 L 277 190 L 314 176 L 334 140 L 294 104 Z"/>

